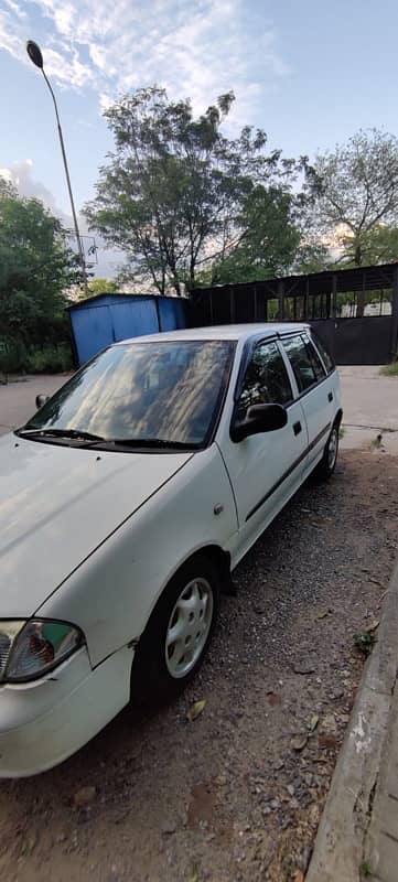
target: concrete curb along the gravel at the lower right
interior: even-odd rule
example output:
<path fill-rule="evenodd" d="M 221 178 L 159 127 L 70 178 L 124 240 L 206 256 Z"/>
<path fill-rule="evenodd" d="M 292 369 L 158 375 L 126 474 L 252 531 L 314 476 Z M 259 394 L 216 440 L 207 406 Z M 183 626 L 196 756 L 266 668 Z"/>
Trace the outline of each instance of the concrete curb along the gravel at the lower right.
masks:
<path fill-rule="evenodd" d="M 398 563 L 318 829 L 306 882 L 358 882 L 398 664 Z"/>

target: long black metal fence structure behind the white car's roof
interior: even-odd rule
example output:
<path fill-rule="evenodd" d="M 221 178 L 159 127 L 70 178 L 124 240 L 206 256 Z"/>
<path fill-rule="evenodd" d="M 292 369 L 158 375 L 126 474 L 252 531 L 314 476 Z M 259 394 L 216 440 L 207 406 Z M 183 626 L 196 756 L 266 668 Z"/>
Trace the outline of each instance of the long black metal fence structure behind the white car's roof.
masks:
<path fill-rule="evenodd" d="M 398 263 L 191 291 L 193 327 L 269 321 L 310 322 L 337 364 L 386 364 L 398 351 Z"/>

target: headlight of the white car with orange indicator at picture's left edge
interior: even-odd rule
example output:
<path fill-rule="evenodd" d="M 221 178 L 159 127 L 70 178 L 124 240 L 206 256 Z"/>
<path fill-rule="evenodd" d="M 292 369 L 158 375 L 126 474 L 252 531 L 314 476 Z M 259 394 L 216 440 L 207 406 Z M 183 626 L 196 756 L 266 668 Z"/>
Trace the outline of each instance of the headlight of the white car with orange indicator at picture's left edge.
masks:
<path fill-rule="evenodd" d="M 0 682 L 26 682 L 57 667 L 84 644 L 65 622 L 0 622 Z"/>

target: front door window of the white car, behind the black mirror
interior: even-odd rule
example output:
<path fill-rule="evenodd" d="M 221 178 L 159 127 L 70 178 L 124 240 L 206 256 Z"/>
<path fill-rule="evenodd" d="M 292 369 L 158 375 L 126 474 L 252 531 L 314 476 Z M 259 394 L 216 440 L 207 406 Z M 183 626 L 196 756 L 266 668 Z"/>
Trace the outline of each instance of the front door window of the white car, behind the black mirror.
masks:
<path fill-rule="evenodd" d="M 260 343 L 247 366 L 237 418 L 245 419 L 251 405 L 288 405 L 292 399 L 288 372 L 277 344 Z"/>

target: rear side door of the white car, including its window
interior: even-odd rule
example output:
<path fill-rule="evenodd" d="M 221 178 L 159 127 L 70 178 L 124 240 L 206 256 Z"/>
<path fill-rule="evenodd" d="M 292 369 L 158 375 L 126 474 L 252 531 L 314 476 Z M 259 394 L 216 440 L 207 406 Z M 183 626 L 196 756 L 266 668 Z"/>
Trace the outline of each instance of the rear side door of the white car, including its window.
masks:
<path fill-rule="evenodd" d="M 333 388 L 306 331 L 282 338 L 297 381 L 309 433 L 308 471 L 320 459 L 333 423 Z"/>

